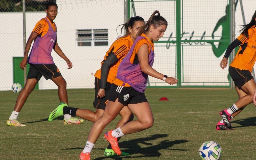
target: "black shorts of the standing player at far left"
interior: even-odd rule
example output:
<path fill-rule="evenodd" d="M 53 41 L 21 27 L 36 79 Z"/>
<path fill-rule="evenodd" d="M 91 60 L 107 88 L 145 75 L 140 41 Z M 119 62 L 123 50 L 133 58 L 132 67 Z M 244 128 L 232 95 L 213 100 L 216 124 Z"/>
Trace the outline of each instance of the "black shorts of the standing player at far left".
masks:
<path fill-rule="evenodd" d="M 36 78 L 37 81 L 44 78 L 52 79 L 61 76 L 61 73 L 55 64 L 29 64 L 27 79 Z"/>

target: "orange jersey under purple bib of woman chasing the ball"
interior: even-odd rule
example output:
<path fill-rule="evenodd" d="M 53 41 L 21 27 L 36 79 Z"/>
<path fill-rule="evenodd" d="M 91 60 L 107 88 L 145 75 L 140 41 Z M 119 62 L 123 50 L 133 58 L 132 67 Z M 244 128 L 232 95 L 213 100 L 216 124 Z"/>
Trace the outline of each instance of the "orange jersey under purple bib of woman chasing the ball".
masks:
<path fill-rule="evenodd" d="M 133 64 L 136 60 L 138 61 L 137 53 L 138 53 L 138 50 L 139 50 L 140 46 L 142 46 L 143 44 L 147 44 L 147 45 L 148 45 L 148 54 L 150 53 L 150 47 L 149 47 L 149 45 L 151 46 L 152 50 L 154 51 L 154 43 L 153 43 L 152 41 L 150 41 L 150 40 L 148 39 L 148 37 L 147 37 L 144 33 L 142 33 L 141 36 L 146 37 L 146 39 L 147 39 L 148 41 L 147 41 L 146 39 L 141 39 L 141 40 L 139 40 L 139 41 L 135 44 L 134 50 L 133 50 L 133 52 L 132 52 L 132 56 L 131 56 L 131 58 L 130 58 L 130 62 L 131 62 L 132 64 Z M 149 43 L 149 44 L 148 44 L 148 43 Z M 138 62 L 138 63 L 139 63 L 139 62 Z M 124 84 L 123 81 L 121 81 L 120 79 L 117 79 L 117 78 L 114 80 L 113 83 L 116 84 L 116 85 L 119 85 L 119 86 L 122 86 L 122 84 Z M 130 87 L 130 86 L 131 86 L 131 85 L 129 85 L 128 83 L 125 83 L 125 84 L 124 84 L 124 87 Z"/>

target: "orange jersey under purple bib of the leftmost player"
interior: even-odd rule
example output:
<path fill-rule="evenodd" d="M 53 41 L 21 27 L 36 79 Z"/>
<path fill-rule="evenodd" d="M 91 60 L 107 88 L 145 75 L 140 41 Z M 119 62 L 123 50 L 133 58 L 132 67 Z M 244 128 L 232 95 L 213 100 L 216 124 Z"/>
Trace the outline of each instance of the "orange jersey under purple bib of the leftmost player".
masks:
<path fill-rule="evenodd" d="M 45 17 L 45 18 L 49 20 L 48 17 Z M 51 23 L 52 29 L 55 31 L 55 23 L 54 22 L 52 23 L 51 20 L 49 20 L 49 22 Z M 36 26 L 33 29 L 33 32 L 36 32 L 38 36 L 42 37 L 48 32 L 48 29 L 49 29 L 49 25 L 47 21 L 44 18 L 42 18 L 36 23 Z"/>

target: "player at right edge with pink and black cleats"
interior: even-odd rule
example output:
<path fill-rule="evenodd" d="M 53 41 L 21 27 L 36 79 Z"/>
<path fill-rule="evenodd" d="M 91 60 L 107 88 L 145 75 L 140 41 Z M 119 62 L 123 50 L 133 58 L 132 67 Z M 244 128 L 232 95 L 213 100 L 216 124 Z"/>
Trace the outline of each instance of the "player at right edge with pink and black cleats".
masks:
<path fill-rule="evenodd" d="M 220 67 L 226 68 L 228 57 L 231 51 L 238 45 L 239 50 L 236 57 L 230 64 L 228 72 L 235 82 L 236 92 L 239 99 L 227 109 L 220 111 L 222 120 L 216 125 L 216 130 L 232 129 L 231 119 L 244 109 L 245 106 L 256 102 L 255 81 L 252 76 L 252 69 L 256 60 L 256 11 L 249 24 L 243 25 L 242 33 L 227 48 L 227 51 L 220 61 Z M 255 103 L 256 104 L 256 103 Z"/>

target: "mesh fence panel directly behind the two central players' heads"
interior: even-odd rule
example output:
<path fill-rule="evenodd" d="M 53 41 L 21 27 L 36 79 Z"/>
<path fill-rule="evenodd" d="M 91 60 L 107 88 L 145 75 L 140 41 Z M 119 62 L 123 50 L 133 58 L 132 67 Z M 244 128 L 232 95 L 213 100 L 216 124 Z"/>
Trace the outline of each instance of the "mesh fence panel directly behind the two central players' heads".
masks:
<path fill-rule="evenodd" d="M 132 2 L 131 2 L 132 3 Z M 148 20 L 151 14 L 158 10 L 160 14 L 167 20 L 168 27 L 159 41 L 167 41 L 169 36 L 175 37 L 175 1 L 133 1 L 136 12 L 131 12 L 131 17 L 141 16 L 144 20 Z M 132 6 L 132 5 L 131 5 Z M 132 9 L 132 8 L 131 8 Z M 167 49 L 168 48 L 168 49 Z M 155 43 L 155 60 L 153 68 L 158 72 L 168 76 L 177 77 L 176 72 L 176 47 L 175 45 L 166 43 Z M 148 85 L 150 86 L 170 86 L 162 80 L 149 76 Z M 177 86 L 176 84 L 174 86 Z"/>

